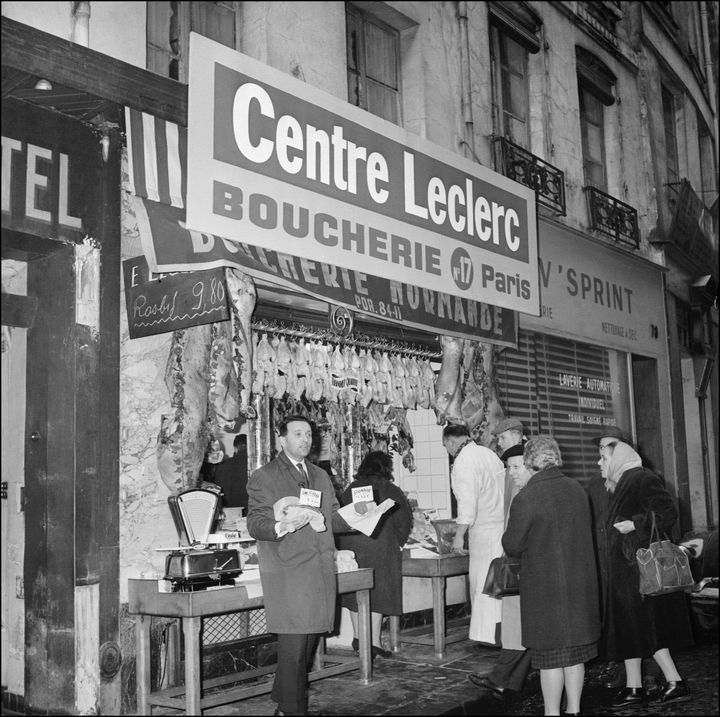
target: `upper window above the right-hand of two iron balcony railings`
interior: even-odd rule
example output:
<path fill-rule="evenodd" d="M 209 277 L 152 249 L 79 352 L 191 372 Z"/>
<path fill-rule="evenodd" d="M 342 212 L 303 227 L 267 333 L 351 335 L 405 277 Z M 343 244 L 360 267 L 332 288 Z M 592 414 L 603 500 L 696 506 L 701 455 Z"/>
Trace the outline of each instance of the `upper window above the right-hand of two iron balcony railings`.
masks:
<path fill-rule="evenodd" d="M 576 48 L 576 61 L 585 184 L 606 192 L 605 106 L 615 102 L 615 76 L 580 47 Z"/>

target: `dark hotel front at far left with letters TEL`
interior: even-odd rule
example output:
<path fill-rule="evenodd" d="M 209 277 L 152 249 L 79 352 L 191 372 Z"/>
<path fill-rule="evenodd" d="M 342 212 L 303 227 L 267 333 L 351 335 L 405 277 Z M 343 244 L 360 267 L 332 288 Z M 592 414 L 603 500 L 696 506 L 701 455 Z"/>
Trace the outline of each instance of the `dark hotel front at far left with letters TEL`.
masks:
<path fill-rule="evenodd" d="M 119 155 L 9 99 L 2 136 L 3 685 L 69 714 L 119 667 Z"/>

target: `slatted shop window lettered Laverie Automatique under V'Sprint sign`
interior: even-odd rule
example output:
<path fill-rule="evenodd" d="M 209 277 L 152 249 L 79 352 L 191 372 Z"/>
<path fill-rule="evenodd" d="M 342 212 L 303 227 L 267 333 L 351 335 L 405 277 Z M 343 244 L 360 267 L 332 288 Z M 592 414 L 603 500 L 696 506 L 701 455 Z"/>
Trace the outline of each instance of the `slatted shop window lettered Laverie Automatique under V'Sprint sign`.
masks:
<path fill-rule="evenodd" d="M 592 344 L 520 331 L 518 348 L 497 360 L 506 415 L 517 416 L 530 436 L 551 435 L 563 472 L 585 481 L 597 474 L 597 446 L 605 425 L 630 430 L 627 355 Z"/>

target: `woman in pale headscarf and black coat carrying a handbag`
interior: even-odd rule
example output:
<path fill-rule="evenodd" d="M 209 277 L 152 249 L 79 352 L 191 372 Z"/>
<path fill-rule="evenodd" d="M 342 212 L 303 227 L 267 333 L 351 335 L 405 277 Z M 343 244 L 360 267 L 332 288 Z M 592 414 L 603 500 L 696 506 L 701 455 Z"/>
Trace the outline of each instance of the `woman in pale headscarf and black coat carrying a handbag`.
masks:
<path fill-rule="evenodd" d="M 626 443 L 601 445 L 598 464 L 612 494 L 605 530 L 608 585 L 603 640 L 608 659 L 625 661 L 627 676 L 613 706 L 645 703 L 642 658 L 651 655 L 667 682 L 660 699 L 687 700 L 688 687 L 670 655 L 670 649 L 693 643 L 685 595 L 643 598 L 635 559 L 635 551 L 650 544 L 653 513 L 660 534 L 670 533 L 678 517 L 675 502 L 662 480 L 642 467 L 642 459 Z"/>

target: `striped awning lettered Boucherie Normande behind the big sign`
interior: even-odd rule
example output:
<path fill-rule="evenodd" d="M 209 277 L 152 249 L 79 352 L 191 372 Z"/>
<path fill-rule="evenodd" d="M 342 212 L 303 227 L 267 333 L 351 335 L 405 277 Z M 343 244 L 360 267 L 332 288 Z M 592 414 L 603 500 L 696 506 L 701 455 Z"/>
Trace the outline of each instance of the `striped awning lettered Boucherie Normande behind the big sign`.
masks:
<path fill-rule="evenodd" d="M 126 108 L 128 184 L 155 273 L 239 267 L 331 304 L 431 333 L 517 345 L 517 313 L 185 227 L 187 130 Z"/>

